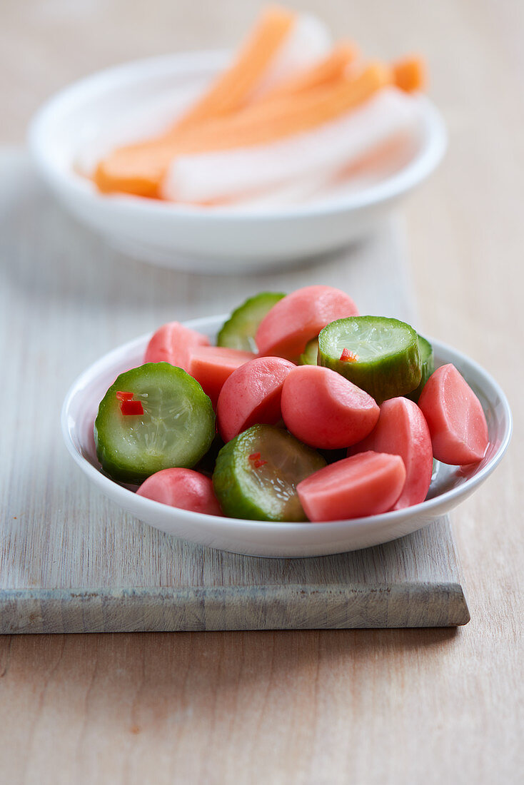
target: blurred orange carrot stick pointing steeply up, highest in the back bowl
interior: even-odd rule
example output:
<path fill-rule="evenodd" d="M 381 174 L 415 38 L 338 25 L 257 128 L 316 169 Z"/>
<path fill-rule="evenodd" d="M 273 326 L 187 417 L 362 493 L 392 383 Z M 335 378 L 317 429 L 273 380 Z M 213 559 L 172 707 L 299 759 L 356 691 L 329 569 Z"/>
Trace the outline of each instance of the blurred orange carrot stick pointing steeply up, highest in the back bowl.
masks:
<path fill-rule="evenodd" d="M 296 16 L 278 5 L 262 12 L 233 64 L 211 88 L 178 120 L 175 133 L 210 117 L 238 109 L 255 86 L 270 60 L 291 31 Z"/>

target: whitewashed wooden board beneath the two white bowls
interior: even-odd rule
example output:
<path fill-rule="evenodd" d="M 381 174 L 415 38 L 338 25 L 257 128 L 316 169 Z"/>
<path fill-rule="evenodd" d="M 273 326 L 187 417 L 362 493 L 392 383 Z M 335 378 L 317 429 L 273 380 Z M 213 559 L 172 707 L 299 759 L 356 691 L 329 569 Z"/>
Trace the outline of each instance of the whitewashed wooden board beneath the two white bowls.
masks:
<path fill-rule="evenodd" d="M 0 224 L 0 633 L 467 623 L 447 519 L 354 553 L 242 557 L 134 520 L 90 486 L 61 442 L 65 392 L 98 356 L 258 290 L 329 283 L 362 313 L 423 329 L 396 223 L 287 272 L 191 276 L 113 252 L 54 203 L 23 152 L 5 151 Z"/>

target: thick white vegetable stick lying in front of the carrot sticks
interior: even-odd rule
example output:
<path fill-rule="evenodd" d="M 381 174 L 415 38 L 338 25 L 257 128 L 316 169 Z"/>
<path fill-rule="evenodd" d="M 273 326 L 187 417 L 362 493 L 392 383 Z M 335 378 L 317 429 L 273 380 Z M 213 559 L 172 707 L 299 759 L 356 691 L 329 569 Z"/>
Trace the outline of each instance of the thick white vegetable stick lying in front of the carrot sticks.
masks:
<path fill-rule="evenodd" d="M 163 182 L 163 196 L 174 201 L 208 203 L 245 199 L 297 179 L 325 181 L 361 162 L 392 140 L 408 137 L 420 122 L 411 97 L 389 87 L 361 107 L 299 135 L 270 144 L 218 152 L 181 154 Z"/>

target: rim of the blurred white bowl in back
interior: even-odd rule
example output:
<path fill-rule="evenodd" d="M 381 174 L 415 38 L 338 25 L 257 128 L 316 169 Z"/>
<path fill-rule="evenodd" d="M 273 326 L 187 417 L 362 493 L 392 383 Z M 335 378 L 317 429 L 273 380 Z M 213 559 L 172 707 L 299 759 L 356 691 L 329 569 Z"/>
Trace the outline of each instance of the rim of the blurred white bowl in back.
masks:
<path fill-rule="evenodd" d="M 53 181 L 62 189 L 73 191 L 76 195 L 83 199 L 90 199 L 93 203 L 103 204 L 108 209 L 128 210 L 130 214 L 154 215 L 171 220 L 174 217 L 189 221 L 205 219 L 221 223 L 224 221 L 289 221 L 326 215 L 335 216 L 386 203 L 405 192 L 409 192 L 423 181 L 438 166 L 445 154 L 448 135 L 442 115 L 428 97 L 416 93 L 413 95 L 413 100 L 419 104 L 425 130 L 424 142 L 420 150 L 401 170 L 390 177 L 363 188 L 360 192 L 348 194 L 339 199 L 263 209 L 241 207 L 239 210 L 235 210 L 232 207 L 215 206 L 213 210 L 209 210 L 202 206 L 182 206 L 130 194 L 99 194 L 93 184 L 75 173 L 71 167 L 64 169 L 54 166 L 52 160 L 49 159 L 45 143 L 46 129 L 49 126 L 53 127 L 53 123 L 57 122 L 57 113 L 60 115 L 60 112 L 67 110 L 71 104 L 73 106 L 85 104 L 86 100 L 97 95 L 102 87 L 106 90 L 116 89 L 119 83 L 122 84 L 122 79 L 125 79 L 128 84 L 136 82 L 141 72 L 143 72 L 141 79 L 144 80 L 147 75 L 152 78 L 154 75 L 165 74 L 166 71 L 178 71 L 183 74 L 204 68 L 217 69 L 225 63 L 230 54 L 229 50 L 225 49 L 206 49 L 146 57 L 95 71 L 91 75 L 72 82 L 49 97 L 38 109 L 28 126 L 27 143 L 38 170 L 48 181 Z M 60 122 L 60 118 L 58 122 Z"/>

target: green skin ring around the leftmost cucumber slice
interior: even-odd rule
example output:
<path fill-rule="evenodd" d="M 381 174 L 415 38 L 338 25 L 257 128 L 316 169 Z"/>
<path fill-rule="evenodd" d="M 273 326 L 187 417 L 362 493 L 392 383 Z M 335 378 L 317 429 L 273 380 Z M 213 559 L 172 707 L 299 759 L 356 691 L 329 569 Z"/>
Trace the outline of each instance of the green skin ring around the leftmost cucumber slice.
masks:
<path fill-rule="evenodd" d="M 192 378 L 192 376 L 189 376 L 189 374 L 183 371 L 182 368 L 170 365 L 170 363 L 145 363 L 144 365 L 138 366 L 137 368 L 130 368 L 129 371 L 124 371 L 123 374 L 119 374 L 119 376 L 115 379 L 115 382 L 113 382 L 111 387 L 109 387 L 108 391 L 105 393 L 98 407 L 97 418 L 95 419 L 93 426 L 93 436 L 94 443 L 97 448 L 97 458 L 101 463 L 102 470 L 105 474 L 111 477 L 112 480 L 116 480 L 117 482 L 140 485 L 144 482 L 144 480 L 147 480 L 149 476 L 156 473 L 157 471 L 160 471 L 160 469 L 171 469 L 174 466 L 173 463 L 167 462 L 167 465 L 158 466 L 158 468 L 154 468 L 152 470 L 144 465 L 142 465 L 141 468 L 138 466 L 133 466 L 131 468 L 125 461 L 119 462 L 118 460 L 115 460 L 114 455 L 112 455 L 112 451 L 109 451 L 104 447 L 104 420 L 108 423 L 109 419 L 112 417 L 112 411 L 110 410 L 115 408 L 115 406 L 116 408 L 119 406 L 118 403 L 115 404 L 116 392 L 121 389 L 126 389 L 126 386 L 129 385 L 129 374 L 133 374 L 134 371 L 147 368 L 148 366 L 167 366 L 170 369 L 173 369 L 175 375 L 179 377 L 188 377 L 191 380 L 190 384 L 196 385 L 196 394 L 199 394 L 200 390 L 200 393 L 203 396 L 202 400 L 204 406 L 205 399 L 207 399 L 208 411 L 204 411 L 203 414 L 207 415 L 209 418 L 209 438 L 203 441 L 203 447 L 200 449 L 200 451 L 195 451 L 188 461 L 178 462 L 178 467 L 183 469 L 192 469 L 192 467 L 195 466 L 195 464 L 199 462 L 204 455 L 206 455 L 207 451 L 211 447 L 211 444 L 213 443 L 216 433 L 215 414 L 211 399 L 206 395 L 205 392 L 203 392 L 203 389 L 196 379 Z M 108 426 L 106 425 L 106 427 Z"/>

